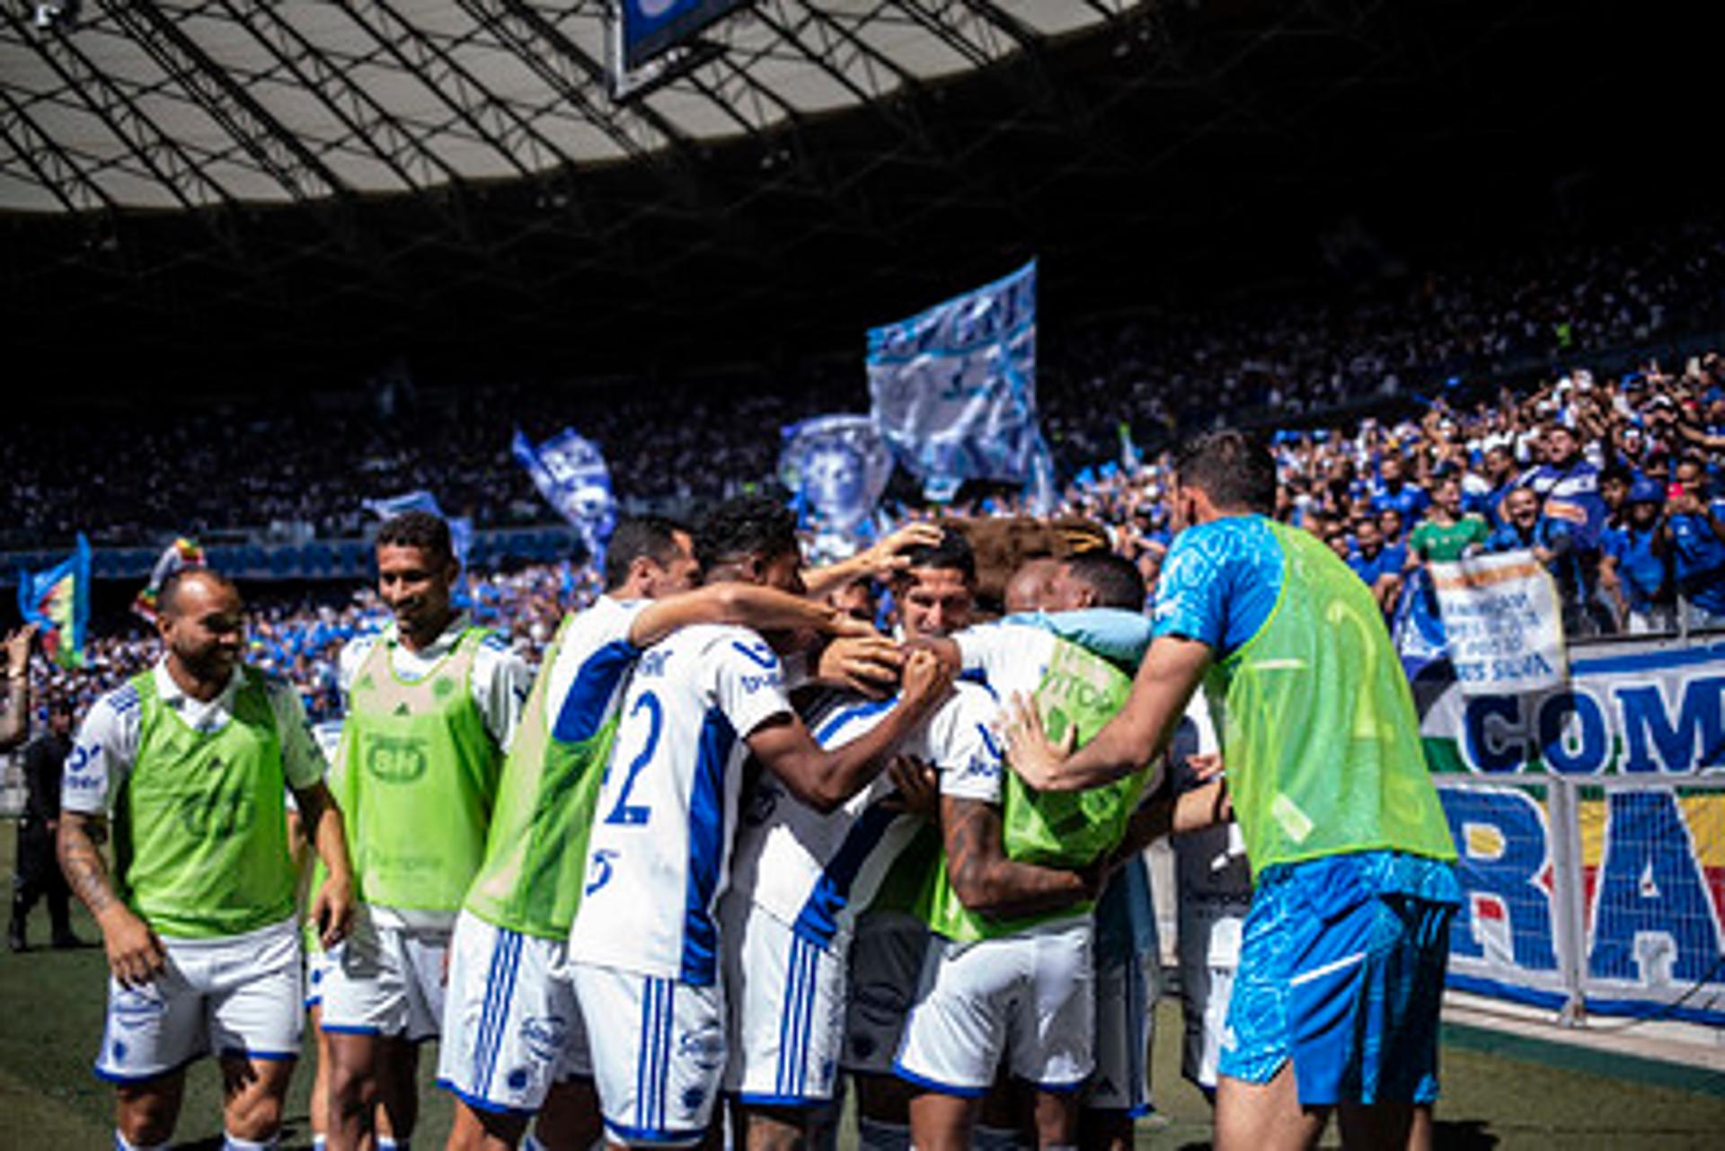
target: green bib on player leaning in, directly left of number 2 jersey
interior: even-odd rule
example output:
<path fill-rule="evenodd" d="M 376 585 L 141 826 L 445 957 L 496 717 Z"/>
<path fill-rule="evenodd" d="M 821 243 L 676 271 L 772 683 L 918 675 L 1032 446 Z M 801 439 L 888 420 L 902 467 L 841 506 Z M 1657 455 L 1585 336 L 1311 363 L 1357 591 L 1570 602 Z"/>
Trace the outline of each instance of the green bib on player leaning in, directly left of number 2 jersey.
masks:
<path fill-rule="evenodd" d="M 586 837 L 618 735 L 616 714 L 580 742 L 549 730 L 550 673 L 573 620 L 564 616 L 557 628 L 516 726 L 485 861 L 466 903 L 486 923 L 543 939 L 568 939 L 581 906 Z"/>

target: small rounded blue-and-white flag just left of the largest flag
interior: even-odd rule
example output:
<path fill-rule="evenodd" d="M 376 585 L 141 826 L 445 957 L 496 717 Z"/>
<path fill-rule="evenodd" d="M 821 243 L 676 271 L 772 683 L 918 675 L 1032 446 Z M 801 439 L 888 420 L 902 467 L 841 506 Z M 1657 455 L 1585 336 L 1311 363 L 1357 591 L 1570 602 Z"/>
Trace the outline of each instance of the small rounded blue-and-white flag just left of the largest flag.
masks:
<path fill-rule="evenodd" d="M 778 478 L 799 526 L 861 542 L 892 478 L 892 452 L 868 416 L 814 416 L 780 433 Z"/>

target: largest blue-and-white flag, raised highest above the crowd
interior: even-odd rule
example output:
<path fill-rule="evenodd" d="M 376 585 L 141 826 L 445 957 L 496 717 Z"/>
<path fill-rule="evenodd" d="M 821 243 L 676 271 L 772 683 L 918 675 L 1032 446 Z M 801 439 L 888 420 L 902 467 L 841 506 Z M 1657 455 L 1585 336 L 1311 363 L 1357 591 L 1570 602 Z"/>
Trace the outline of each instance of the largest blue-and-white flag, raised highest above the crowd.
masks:
<path fill-rule="evenodd" d="M 1037 456 L 1037 262 L 868 333 L 871 416 L 925 488 L 1026 483 Z"/>

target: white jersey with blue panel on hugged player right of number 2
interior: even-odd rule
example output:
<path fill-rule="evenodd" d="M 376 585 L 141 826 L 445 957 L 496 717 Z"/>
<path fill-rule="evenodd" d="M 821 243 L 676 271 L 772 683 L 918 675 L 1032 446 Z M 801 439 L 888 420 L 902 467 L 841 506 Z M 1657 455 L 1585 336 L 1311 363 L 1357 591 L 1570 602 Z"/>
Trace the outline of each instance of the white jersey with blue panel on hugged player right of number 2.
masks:
<path fill-rule="evenodd" d="M 821 692 L 804 720 L 821 747 L 842 747 L 885 720 L 894 702 Z M 944 777 L 999 778 L 999 744 L 988 733 L 994 713 L 987 690 L 959 683 L 899 751 L 938 768 Z M 816 946 L 847 940 L 856 916 L 868 909 L 921 825 L 921 816 L 881 806 L 892 794 L 892 778 L 881 771 L 842 808 L 821 815 L 799 801 L 783 780 L 762 771 L 737 832 L 733 897 L 747 897 Z"/>

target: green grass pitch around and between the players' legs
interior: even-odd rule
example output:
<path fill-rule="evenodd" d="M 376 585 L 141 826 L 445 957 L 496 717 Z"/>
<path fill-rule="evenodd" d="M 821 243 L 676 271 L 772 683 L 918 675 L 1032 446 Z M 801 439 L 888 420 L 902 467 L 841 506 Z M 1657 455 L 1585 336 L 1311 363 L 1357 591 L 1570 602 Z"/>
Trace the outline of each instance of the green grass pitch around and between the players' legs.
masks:
<path fill-rule="evenodd" d="M 0 873 L 10 875 L 14 833 L 0 823 Z M 78 909 L 78 932 L 98 934 Z M 31 916 L 33 940 L 48 935 L 47 909 Z M 112 1096 L 90 1073 L 102 1037 L 107 965 L 100 947 L 0 953 L 0 1151 L 112 1146 Z M 1718 1148 L 1725 1082 L 1646 1061 L 1575 1056 L 1570 1049 L 1477 1030 L 1446 1032 L 1439 1148 L 1565 1151 L 1585 1148 Z M 421 1058 L 421 1125 L 414 1146 L 435 1151 L 448 1132 L 448 1098 L 431 1085 L 436 1047 Z M 312 1056 L 288 1098 L 283 1148 L 307 1148 Z M 1209 1142 L 1204 1098 L 1180 1079 L 1180 1011 L 1157 1011 L 1152 1058 L 1159 1115 L 1138 1127 L 1138 1148 L 1197 1151 Z M 219 1148 L 221 1085 L 210 1061 L 188 1073 L 179 1118 L 183 1148 Z M 1333 1139 L 1333 1130 L 1332 1130 Z M 845 1146 L 854 1146 L 847 1130 Z"/>

